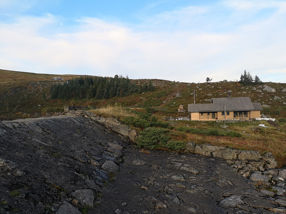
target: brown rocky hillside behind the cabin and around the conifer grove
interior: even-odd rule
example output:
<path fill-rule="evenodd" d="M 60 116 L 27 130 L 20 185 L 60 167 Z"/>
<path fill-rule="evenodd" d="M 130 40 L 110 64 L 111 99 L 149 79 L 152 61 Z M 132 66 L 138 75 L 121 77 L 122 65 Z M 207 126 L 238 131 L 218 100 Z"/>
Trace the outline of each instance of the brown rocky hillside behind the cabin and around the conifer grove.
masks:
<path fill-rule="evenodd" d="M 261 85 L 241 86 L 237 82 L 211 82 L 185 83 L 168 80 L 153 79 L 156 86 L 154 92 L 132 94 L 126 97 L 114 97 L 110 99 L 82 99 L 82 100 L 58 100 L 51 99 L 49 90 L 57 81 L 51 80 L 55 76 L 66 79 L 79 77 L 79 75 L 35 74 L 0 70 L 0 120 L 17 119 L 25 117 L 39 117 L 62 112 L 65 105 L 82 105 L 102 107 L 106 104 L 117 104 L 124 107 L 154 107 L 159 116 L 186 116 L 186 113 L 177 113 L 180 104 L 187 109 L 189 103 L 194 102 L 193 90 L 195 89 L 196 103 L 209 103 L 211 98 L 226 97 L 231 91 L 233 97 L 249 96 L 252 102 L 267 104 L 271 108 L 265 108 L 263 114 L 273 118 L 286 117 L 286 83 L 265 82 Z M 149 79 L 133 80 L 137 84 L 148 83 Z M 202 80 L 204 81 L 204 79 Z M 263 91 L 264 85 L 274 88 L 276 92 Z M 255 90 L 254 90 L 255 89 Z M 275 100 L 274 96 L 281 99 Z"/>

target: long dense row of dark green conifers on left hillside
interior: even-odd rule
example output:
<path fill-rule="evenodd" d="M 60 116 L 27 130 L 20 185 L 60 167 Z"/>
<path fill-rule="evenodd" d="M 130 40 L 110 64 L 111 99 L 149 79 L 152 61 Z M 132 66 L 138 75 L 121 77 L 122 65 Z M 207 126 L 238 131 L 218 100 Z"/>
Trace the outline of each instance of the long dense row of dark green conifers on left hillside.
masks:
<path fill-rule="evenodd" d="M 85 76 L 73 79 L 68 83 L 58 83 L 51 87 L 52 99 L 108 99 L 123 97 L 133 93 L 154 91 L 152 82 L 136 85 L 128 77 L 115 75 L 114 78 Z"/>

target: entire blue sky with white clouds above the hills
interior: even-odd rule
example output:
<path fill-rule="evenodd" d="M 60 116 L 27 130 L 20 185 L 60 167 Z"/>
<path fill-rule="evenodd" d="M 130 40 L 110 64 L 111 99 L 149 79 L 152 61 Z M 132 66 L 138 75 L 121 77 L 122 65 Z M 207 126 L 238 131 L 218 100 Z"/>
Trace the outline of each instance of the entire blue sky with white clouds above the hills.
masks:
<path fill-rule="evenodd" d="M 285 38 L 286 0 L 0 0 L 5 70 L 285 83 Z"/>

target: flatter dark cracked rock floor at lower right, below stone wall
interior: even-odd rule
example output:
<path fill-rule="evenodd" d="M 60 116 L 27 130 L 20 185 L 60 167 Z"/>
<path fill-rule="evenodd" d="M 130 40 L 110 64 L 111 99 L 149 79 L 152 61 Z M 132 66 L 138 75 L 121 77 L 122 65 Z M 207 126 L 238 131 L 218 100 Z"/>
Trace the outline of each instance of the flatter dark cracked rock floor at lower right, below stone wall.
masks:
<path fill-rule="evenodd" d="M 285 197 L 252 183 L 223 159 L 130 147 L 89 213 L 285 213 Z"/>

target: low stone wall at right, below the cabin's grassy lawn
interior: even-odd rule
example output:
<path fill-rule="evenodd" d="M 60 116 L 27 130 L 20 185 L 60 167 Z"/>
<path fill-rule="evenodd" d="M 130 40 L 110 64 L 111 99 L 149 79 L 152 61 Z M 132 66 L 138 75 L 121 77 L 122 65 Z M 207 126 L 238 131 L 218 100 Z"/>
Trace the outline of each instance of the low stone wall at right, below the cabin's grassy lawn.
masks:
<path fill-rule="evenodd" d="M 230 147 L 212 146 L 209 144 L 186 143 L 185 152 L 200 154 L 207 157 L 223 158 L 233 164 L 233 170 L 244 177 L 249 177 L 253 171 L 265 171 L 277 167 L 277 162 L 271 154 L 259 154 L 256 151 L 236 150 Z"/>

